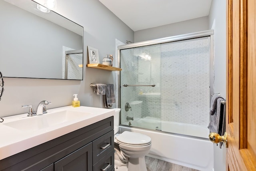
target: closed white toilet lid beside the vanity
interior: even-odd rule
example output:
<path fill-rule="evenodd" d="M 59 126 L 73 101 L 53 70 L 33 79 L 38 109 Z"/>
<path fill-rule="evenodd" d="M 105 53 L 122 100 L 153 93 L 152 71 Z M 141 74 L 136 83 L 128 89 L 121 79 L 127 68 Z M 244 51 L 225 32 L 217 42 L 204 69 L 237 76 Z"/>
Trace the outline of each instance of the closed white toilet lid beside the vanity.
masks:
<path fill-rule="evenodd" d="M 124 131 L 116 140 L 124 145 L 148 145 L 151 143 L 151 138 L 141 133 Z"/>

